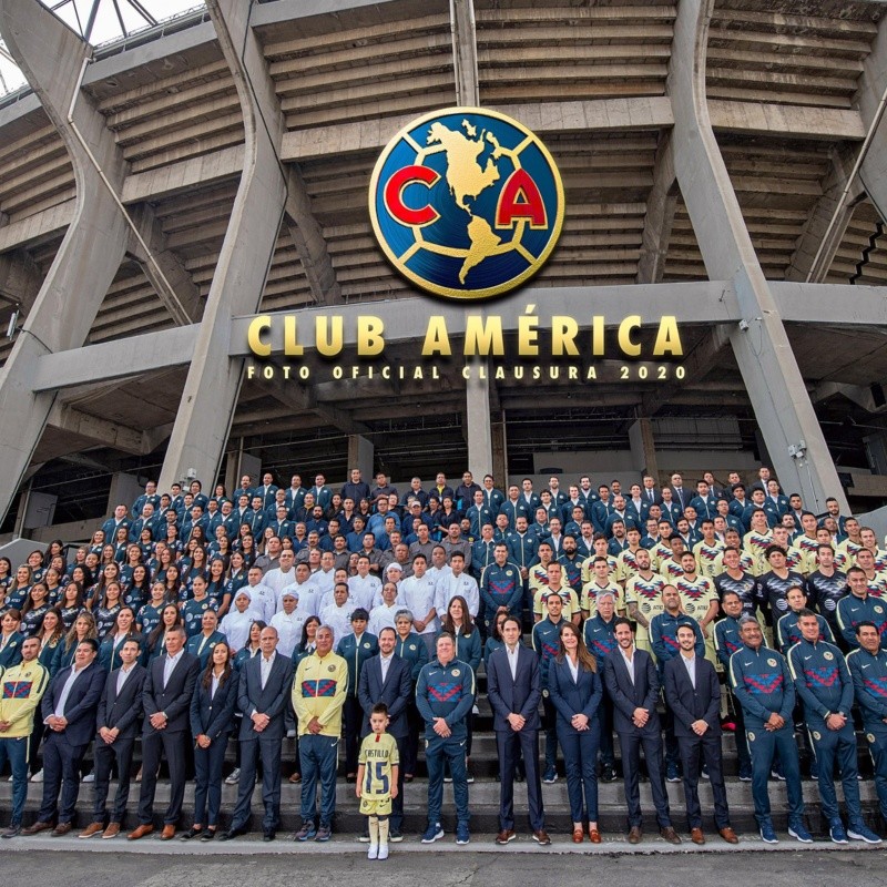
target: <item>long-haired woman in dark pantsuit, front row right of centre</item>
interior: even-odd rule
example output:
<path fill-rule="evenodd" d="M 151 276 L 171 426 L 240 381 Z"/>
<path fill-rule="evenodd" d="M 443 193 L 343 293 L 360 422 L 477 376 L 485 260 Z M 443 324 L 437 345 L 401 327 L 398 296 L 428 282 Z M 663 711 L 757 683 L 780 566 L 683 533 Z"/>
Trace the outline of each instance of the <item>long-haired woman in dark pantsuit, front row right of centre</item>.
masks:
<path fill-rule="evenodd" d="M 582 824 L 588 817 L 589 839 L 592 844 L 600 844 L 597 765 L 601 745 L 599 710 L 603 683 L 594 656 L 589 653 L 579 629 L 571 622 L 564 622 L 561 628 L 559 648 L 549 666 L 548 691 L 558 712 L 558 742 L 567 765 L 573 843 L 582 843 Z"/>

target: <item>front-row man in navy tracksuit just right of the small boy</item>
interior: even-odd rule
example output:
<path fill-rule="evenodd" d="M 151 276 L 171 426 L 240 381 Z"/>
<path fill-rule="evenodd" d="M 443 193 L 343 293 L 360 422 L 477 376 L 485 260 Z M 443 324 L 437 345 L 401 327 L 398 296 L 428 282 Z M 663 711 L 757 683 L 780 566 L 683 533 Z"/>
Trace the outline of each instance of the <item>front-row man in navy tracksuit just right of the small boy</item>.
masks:
<path fill-rule="evenodd" d="M 440 807 L 445 762 L 449 762 L 452 774 L 456 843 L 465 845 L 471 840 L 465 744 L 468 734 L 466 716 L 475 704 L 475 673 L 455 656 L 453 636 L 441 633 L 437 639 L 437 656 L 422 666 L 416 684 L 416 706 L 425 722 L 425 757 L 428 763 L 428 827 L 422 844 L 434 844 L 443 837 Z"/>

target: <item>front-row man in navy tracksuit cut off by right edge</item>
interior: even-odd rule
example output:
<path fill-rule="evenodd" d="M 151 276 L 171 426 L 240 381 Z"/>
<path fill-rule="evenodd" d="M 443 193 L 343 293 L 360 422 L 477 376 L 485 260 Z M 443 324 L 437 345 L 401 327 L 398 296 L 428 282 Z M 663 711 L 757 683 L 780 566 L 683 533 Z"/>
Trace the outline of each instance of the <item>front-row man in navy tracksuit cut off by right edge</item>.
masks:
<path fill-rule="evenodd" d="M 863 714 L 868 751 L 875 763 L 880 815 L 887 816 L 887 652 L 874 622 L 856 626 L 859 649 L 847 654 L 854 695 Z"/>

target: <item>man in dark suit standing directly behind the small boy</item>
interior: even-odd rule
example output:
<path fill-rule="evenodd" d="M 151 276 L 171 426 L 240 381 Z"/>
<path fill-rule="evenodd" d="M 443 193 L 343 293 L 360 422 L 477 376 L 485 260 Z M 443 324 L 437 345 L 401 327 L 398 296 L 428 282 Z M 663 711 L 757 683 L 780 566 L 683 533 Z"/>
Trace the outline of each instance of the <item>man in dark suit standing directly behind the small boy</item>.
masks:
<path fill-rule="evenodd" d="M 357 699 L 364 711 L 361 738 L 369 733 L 369 715 L 373 713 L 373 706 L 384 702 L 388 706 L 388 733 L 397 742 L 400 761 L 406 761 L 409 737 L 407 707 L 412 699 L 412 669 L 410 663 L 395 654 L 396 644 L 397 632 L 394 629 L 379 631 L 379 652 L 378 655 L 368 659 L 360 669 Z M 404 767 L 400 766 L 397 768 L 397 797 L 391 802 L 388 840 L 397 843 L 404 839 L 402 825 Z M 369 840 L 369 832 L 366 837 Z"/>

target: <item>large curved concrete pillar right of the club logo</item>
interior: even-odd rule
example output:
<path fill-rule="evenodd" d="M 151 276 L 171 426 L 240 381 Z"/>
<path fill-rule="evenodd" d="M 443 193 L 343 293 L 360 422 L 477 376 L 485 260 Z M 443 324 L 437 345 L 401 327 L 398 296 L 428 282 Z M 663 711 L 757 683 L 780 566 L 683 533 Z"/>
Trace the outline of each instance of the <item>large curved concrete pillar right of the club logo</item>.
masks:
<path fill-rule="evenodd" d="M 824 511 L 828 496 L 845 509 L 844 490 L 708 119 L 705 59 L 713 6 L 714 0 L 682 0 L 675 20 L 667 90 L 677 182 L 708 277 L 734 282 L 744 320 L 732 328 L 730 340 L 779 482 L 799 492 L 812 511 Z"/>

